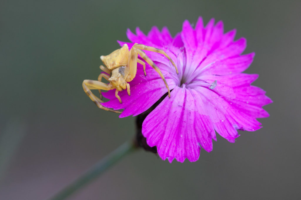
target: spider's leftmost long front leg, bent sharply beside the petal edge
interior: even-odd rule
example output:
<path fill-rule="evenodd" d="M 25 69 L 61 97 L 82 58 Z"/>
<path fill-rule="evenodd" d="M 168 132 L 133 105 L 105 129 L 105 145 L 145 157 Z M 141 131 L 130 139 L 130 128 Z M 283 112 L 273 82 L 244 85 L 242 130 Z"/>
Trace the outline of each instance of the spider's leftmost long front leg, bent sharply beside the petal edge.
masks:
<path fill-rule="evenodd" d="M 98 97 L 96 97 L 91 90 L 93 89 L 102 89 L 102 90 L 113 90 L 113 86 L 112 85 L 107 85 L 103 82 L 99 82 L 99 81 L 93 81 L 93 80 L 84 80 L 82 82 L 82 88 L 84 89 L 85 93 L 88 95 L 88 97 L 90 97 L 90 99 L 96 104 L 96 106 L 98 106 L 98 108 L 110 111 L 110 112 L 115 112 L 115 113 L 121 113 L 120 111 L 117 110 L 113 110 L 107 107 L 102 106 L 100 103 L 103 103 L 103 101 L 101 99 L 99 99 Z"/>

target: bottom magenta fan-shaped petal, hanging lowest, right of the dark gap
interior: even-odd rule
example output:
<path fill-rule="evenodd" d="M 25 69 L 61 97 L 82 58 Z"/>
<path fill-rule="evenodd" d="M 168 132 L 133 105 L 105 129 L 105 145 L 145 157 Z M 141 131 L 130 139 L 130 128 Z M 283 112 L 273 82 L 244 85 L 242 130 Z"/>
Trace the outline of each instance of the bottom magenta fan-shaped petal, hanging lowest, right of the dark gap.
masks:
<path fill-rule="evenodd" d="M 159 156 L 169 162 L 174 158 L 194 162 L 200 147 L 212 151 L 212 139 L 216 139 L 200 96 L 194 90 L 179 87 L 146 117 L 142 133 L 147 144 L 157 146 Z"/>

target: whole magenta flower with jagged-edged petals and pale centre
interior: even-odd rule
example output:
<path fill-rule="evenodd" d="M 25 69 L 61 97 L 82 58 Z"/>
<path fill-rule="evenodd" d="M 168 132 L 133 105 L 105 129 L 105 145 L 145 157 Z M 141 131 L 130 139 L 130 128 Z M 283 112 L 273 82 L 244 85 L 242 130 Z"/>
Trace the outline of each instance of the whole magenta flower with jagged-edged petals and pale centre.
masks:
<path fill-rule="evenodd" d="M 229 142 L 235 142 L 237 130 L 255 131 L 260 127 L 256 118 L 268 117 L 262 106 L 272 103 L 265 91 L 250 85 L 257 74 L 242 73 L 253 61 L 254 53 L 241 55 L 246 39 L 234 40 L 235 30 L 224 34 L 223 23 L 214 25 L 214 19 L 204 27 L 199 17 L 195 28 L 186 20 L 182 31 L 172 37 L 166 27 L 159 31 L 153 27 L 144 35 L 139 28 L 136 34 L 129 29 L 131 43 L 163 49 L 175 62 L 179 74 L 166 57 L 144 51 L 164 74 L 171 97 L 164 100 L 145 118 L 142 134 L 147 144 L 157 146 L 159 156 L 169 162 L 185 158 L 194 162 L 200 156 L 200 148 L 212 151 L 212 139 L 219 133 Z M 125 42 L 118 41 L 122 46 Z M 120 118 L 139 115 L 166 94 L 167 89 L 159 74 L 147 64 L 144 76 L 141 64 L 137 75 L 129 82 L 131 96 L 119 92 L 123 103 L 115 97 L 115 91 L 104 93 L 110 99 L 103 106 L 124 109 Z"/>

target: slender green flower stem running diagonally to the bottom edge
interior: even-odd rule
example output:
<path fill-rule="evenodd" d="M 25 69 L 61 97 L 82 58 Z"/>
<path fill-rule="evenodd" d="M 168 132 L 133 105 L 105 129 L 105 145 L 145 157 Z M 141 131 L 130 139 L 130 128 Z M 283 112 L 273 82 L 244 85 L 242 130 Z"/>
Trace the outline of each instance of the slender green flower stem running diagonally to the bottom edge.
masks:
<path fill-rule="evenodd" d="M 113 166 L 117 161 L 121 160 L 124 156 L 134 151 L 137 146 L 133 142 L 126 142 L 119 146 L 115 151 L 111 152 L 109 155 L 104 157 L 98 163 L 95 164 L 91 169 L 85 172 L 81 177 L 76 179 L 73 183 L 65 187 L 59 193 L 57 193 L 50 200 L 61 200 L 66 199 L 68 196 L 75 193 L 80 188 L 84 187 L 86 184 L 93 181 L 104 171 Z"/>

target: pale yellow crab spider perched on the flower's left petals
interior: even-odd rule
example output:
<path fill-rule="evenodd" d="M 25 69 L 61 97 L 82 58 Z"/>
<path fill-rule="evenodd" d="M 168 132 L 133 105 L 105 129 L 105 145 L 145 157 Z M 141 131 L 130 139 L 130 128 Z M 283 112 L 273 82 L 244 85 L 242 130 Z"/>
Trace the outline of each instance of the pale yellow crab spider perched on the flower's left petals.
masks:
<path fill-rule="evenodd" d="M 102 101 L 102 95 L 101 90 L 113 90 L 116 88 L 115 96 L 119 100 L 120 103 L 122 103 L 118 91 L 123 91 L 127 89 L 128 95 L 130 96 L 130 85 L 128 82 L 132 81 L 137 73 L 137 63 L 140 63 L 143 65 L 143 71 L 144 75 L 146 76 L 145 71 L 145 62 L 138 59 L 138 54 L 143 58 L 148 64 L 151 65 L 151 67 L 154 68 L 154 70 L 159 73 L 161 78 L 163 79 L 166 88 L 168 90 L 168 97 L 170 97 L 170 91 L 169 87 L 167 85 L 167 82 L 161 72 L 161 70 L 157 67 L 157 65 L 149 58 L 147 55 L 141 50 L 147 50 L 152 52 L 161 53 L 166 56 L 166 58 L 171 61 L 172 65 L 175 67 L 176 72 L 178 73 L 178 69 L 175 66 L 175 63 L 172 61 L 172 59 L 161 49 L 157 49 L 151 46 L 145 46 L 143 44 L 135 44 L 132 49 L 129 50 L 129 47 L 127 44 L 124 44 L 123 47 L 120 49 L 117 49 L 110 53 L 109 55 L 102 55 L 100 59 L 103 61 L 104 66 L 100 66 L 100 69 L 103 70 L 106 73 L 101 73 L 98 76 L 98 81 L 94 80 L 84 80 L 82 82 L 82 87 L 84 88 L 85 93 L 90 97 L 90 99 L 98 106 L 98 108 L 121 113 L 119 111 L 107 108 L 102 106 L 100 103 L 103 103 Z M 101 82 L 101 79 L 105 78 L 110 83 L 106 84 Z M 90 90 L 96 89 L 99 91 L 100 98 L 96 97 Z"/>

